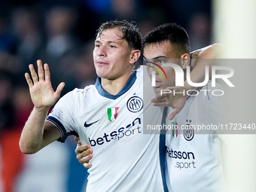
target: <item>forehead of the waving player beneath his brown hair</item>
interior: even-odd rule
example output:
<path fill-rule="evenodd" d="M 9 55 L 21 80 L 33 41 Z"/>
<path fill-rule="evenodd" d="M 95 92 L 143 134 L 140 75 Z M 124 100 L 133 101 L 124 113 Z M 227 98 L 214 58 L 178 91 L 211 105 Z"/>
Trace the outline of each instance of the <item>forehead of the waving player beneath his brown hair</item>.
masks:
<path fill-rule="evenodd" d="M 113 41 L 117 44 L 122 44 L 123 41 L 123 32 L 120 29 L 112 28 L 112 29 L 104 29 L 96 36 L 95 42 L 109 42 Z"/>

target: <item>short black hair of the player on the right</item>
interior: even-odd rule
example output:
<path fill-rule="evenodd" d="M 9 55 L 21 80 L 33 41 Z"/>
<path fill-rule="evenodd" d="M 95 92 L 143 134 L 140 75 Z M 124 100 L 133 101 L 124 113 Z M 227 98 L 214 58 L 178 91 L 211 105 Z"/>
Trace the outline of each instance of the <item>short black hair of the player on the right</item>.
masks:
<path fill-rule="evenodd" d="M 190 53 L 190 41 L 187 32 L 176 23 L 165 23 L 152 29 L 145 35 L 143 45 L 160 44 L 163 41 L 170 41 L 175 44 L 179 54 Z"/>

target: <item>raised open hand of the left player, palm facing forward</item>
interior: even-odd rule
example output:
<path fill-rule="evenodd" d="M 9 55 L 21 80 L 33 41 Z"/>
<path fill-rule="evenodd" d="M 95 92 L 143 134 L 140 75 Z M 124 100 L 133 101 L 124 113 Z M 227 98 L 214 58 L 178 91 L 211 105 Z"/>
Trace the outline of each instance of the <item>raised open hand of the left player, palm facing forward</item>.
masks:
<path fill-rule="evenodd" d="M 38 75 L 32 64 L 29 65 L 32 79 L 29 77 L 29 73 L 25 74 L 26 82 L 29 85 L 30 96 L 35 108 L 50 108 L 59 99 L 65 84 L 63 82 L 60 83 L 54 92 L 50 82 L 49 66 L 45 63 L 43 69 L 42 62 L 39 59 L 37 60 L 37 65 Z"/>

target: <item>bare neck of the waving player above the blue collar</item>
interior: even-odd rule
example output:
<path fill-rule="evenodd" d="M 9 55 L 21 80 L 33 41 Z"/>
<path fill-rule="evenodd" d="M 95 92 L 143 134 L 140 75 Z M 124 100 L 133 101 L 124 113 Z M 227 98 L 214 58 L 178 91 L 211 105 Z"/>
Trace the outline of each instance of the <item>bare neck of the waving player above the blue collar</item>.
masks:
<path fill-rule="evenodd" d="M 115 96 L 117 95 L 117 93 L 120 92 L 120 90 L 123 89 L 123 87 L 126 85 L 131 75 L 132 73 L 126 73 L 125 75 L 119 78 L 116 78 L 114 80 L 102 78 L 101 79 L 102 88 L 109 94 Z"/>

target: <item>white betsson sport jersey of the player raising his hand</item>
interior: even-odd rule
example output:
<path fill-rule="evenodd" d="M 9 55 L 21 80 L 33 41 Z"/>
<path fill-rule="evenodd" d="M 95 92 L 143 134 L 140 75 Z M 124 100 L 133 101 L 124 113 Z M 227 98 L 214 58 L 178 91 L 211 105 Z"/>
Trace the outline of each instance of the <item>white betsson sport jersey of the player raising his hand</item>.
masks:
<path fill-rule="evenodd" d="M 93 148 L 87 192 L 163 191 L 160 135 L 143 134 L 143 111 L 154 108 L 152 123 L 159 123 L 162 113 L 143 99 L 142 67 L 116 96 L 105 92 L 99 81 L 67 93 L 47 117 L 62 133 L 60 141 L 73 134 Z M 151 94 L 153 98 L 153 88 Z"/>

